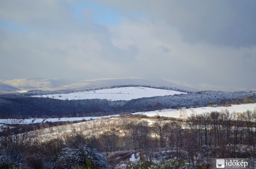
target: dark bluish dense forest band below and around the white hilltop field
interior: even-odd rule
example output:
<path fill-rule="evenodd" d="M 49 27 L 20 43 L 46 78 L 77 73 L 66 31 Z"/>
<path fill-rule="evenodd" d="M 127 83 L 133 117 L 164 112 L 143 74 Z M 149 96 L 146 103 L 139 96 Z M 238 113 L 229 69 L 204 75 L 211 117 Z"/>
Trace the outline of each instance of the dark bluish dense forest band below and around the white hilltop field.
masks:
<path fill-rule="evenodd" d="M 180 89 L 180 91 L 184 90 Z M 250 103 L 250 97 L 254 96 L 253 93 L 248 92 L 223 91 L 190 91 L 187 94 L 139 98 L 130 101 L 109 101 L 106 99 L 58 100 L 29 96 L 50 93 L 53 94 L 53 92 L 30 91 L 25 94 L 0 95 L 0 118 L 8 118 L 14 115 L 19 117 L 100 116 L 121 112 L 205 106 L 210 101 L 213 101 L 214 104 Z"/>

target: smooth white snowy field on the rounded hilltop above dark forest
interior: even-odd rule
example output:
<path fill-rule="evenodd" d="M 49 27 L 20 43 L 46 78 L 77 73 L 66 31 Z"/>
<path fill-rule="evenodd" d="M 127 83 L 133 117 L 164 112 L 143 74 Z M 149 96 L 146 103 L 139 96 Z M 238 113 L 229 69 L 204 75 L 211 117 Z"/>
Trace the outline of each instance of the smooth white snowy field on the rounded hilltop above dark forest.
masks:
<path fill-rule="evenodd" d="M 60 100 L 80 100 L 80 99 L 107 99 L 107 100 L 132 100 L 142 97 L 167 96 L 181 94 L 184 92 L 174 90 L 164 90 L 157 88 L 145 87 L 124 87 L 110 88 L 85 92 L 76 92 L 69 94 L 54 94 L 54 95 L 38 95 L 33 97 L 49 97 Z M 186 94 L 186 93 L 184 93 Z"/>

